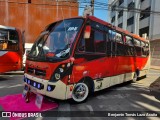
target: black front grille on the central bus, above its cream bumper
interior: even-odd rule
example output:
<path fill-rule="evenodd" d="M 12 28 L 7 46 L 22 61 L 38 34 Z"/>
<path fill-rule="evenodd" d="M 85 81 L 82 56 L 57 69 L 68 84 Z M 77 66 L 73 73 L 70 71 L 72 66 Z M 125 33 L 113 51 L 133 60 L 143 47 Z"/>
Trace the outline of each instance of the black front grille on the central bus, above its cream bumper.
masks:
<path fill-rule="evenodd" d="M 40 69 L 35 69 L 35 68 L 28 68 L 27 72 L 29 74 L 35 74 L 37 76 L 46 76 L 46 71 L 45 70 L 40 70 Z"/>

